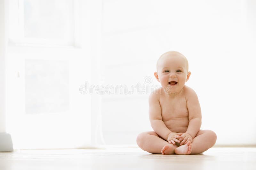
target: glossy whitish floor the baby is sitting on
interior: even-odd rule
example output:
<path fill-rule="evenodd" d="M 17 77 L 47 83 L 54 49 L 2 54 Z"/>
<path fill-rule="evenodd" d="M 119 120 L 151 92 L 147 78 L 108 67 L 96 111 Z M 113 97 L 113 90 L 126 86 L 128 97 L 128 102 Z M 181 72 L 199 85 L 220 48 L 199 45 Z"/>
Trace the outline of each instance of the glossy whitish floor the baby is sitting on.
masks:
<path fill-rule="evenodd" d="M 0 170 L 255 170 L 256 148 L 213 147 L 199 155 L 150 154 L 140 148 L 0 152 Z"/>

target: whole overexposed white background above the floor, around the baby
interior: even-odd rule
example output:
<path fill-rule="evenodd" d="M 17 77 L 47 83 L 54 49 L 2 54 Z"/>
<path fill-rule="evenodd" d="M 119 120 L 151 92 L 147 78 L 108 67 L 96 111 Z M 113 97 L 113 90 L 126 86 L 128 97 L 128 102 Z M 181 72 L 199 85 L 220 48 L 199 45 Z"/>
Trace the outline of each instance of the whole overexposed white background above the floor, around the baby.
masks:
<path fill-rule="evenodd" d="M 170 50 L 189 61 L 186 85 L 216 145 L 256 145 L 255 1 L 10 0 L 4 7 L 5 131 L 14 148 L 136 145 L 140 132 L 152 131 L 148 95 L 160 85 L 156 61 Z"/>

